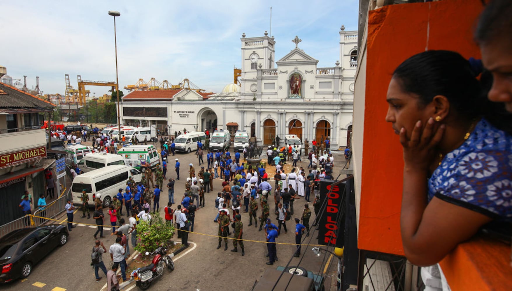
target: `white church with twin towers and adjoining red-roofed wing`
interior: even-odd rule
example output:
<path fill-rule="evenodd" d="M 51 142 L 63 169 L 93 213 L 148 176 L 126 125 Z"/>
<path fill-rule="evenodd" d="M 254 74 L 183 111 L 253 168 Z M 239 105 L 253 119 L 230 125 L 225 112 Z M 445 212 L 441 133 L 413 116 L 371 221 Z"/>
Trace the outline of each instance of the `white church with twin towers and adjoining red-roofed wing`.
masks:
<path fill-rule="evenodd" d="M 339 61 L 318 68 L 318 60 L 292 40 L 292 50 L 275 61 L 275 41 L 242 34 L 239 84 L 222 93 L 189 89 L 133 91 L 122 98 L 126 125 L 166 126 L 169 132 L 214 129 L 247 130 L 259 144 L 294 134 L 303 141 L 325 140 L 331 148 L 347 146 L 352 129 L 357 32 L 339 31 Z"/>

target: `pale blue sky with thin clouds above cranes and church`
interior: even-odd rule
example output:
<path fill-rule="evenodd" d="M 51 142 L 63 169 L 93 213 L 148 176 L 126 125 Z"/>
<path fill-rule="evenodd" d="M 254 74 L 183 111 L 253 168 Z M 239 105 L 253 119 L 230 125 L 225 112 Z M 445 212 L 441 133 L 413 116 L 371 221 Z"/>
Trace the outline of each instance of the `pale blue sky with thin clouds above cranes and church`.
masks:
<path fill-rule="evenodd" d="M 8 1 L 0 4 L 0 65 L 14 79 L 44 94 L 65 92 L 64 75 L 77 88 L 83 80 L 115 81 L 116 18 L 120 88 L 148 81 L 177 84 L 188 78 L 208 92 L 232 82 L 241 65 L 241 35 L 275 37 L 276 60 L 299 48 L 334 66 L 339 28 L 357 29 L 357 0 L 337 1 Z M 23 80 L 22 80 L 23 81 Z M 96 96 L 107 87 L 88 86 Z M 126 94 L 126 90 L 123 90 Z"/>

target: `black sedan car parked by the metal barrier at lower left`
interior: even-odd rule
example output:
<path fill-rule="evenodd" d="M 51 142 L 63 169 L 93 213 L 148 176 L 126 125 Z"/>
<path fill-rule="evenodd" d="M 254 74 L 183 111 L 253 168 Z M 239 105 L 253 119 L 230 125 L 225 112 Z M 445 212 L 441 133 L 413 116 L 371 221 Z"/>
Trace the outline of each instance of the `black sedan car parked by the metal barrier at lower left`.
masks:
<path fill-rule="evenodd" d="M 26 278 L 32 267 L 58 245 L 68 241 L 68 228 L 63 225 L 46 225 L 18 229 L 0 238 L 0 282 L 6 283 L 19 277 Z"/>

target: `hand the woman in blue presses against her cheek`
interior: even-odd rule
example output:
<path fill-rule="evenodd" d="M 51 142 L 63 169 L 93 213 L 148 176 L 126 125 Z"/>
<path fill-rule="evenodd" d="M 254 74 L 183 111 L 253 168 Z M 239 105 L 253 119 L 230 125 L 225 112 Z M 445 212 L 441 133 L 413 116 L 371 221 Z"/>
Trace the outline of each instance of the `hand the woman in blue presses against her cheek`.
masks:
<path fill-rule="evenodd" d="M 430 118 L 422 128 L 422 122 L 418 120 L 410 139 L 407 138 L 406 128 L 400 129 L 404 170 L 426 171 L 430 168 L 436 158 L 435 147 L 441 141 L 445 129 L 444 124 L 434 129 L 434 124 L 434 119 Z"/>

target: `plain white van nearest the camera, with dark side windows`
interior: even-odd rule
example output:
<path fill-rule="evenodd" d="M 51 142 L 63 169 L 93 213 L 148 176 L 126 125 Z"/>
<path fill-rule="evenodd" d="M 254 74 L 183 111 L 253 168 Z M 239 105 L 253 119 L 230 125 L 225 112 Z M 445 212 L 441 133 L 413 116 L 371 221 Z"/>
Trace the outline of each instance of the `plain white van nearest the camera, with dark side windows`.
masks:
<path fill-rule="evenodd" d="M 96 194 L 101 193 L 103 206 L 109 207 L 112 197 L 119 192 L 119 188 L 126 188 L 130 176 L 135 182 L 140 182 L 140 171 L 123 165 L 106 166 L 78 175 L 71 185 L 73 203 L 81 205 L 82 189 L 86 189 L 86 193 L 89 194 L 89 205 L 94 205 Z"/>

